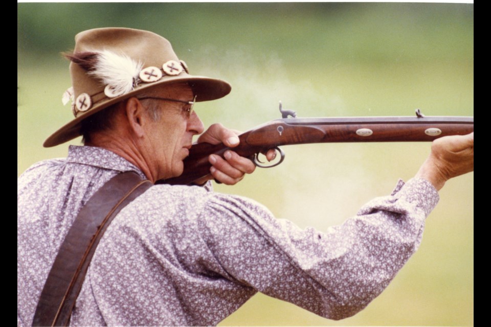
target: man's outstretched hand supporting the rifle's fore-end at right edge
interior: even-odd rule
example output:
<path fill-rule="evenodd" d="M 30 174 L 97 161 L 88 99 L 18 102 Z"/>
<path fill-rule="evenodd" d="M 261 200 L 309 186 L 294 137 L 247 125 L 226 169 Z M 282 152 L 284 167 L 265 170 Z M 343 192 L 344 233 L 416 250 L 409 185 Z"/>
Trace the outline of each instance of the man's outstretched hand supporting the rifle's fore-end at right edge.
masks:
<path fill-rule="evenodd" d="M 450 178 L 474 171 L 474 133 L 444 136 L 433 141 L 431 153 L 416 177 L 440 190 Z"/>

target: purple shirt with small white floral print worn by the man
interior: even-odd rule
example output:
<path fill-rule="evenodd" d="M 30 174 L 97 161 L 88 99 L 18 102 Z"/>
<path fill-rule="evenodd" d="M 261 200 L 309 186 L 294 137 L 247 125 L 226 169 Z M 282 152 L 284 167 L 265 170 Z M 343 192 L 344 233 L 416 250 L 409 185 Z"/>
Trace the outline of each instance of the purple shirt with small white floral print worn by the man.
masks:
<path fill-rule="evenodd" d="M 30 325 L 58 248 L 84 203 L 111 177 L 142 172 L 122 157 L 70 147 L 17 186 L 17 325 Z M 423 179 L 324 231 L 276 219 L 209 187 L 154 185 L 103 236 L 71 325 L 215 325 L 256 292 L 330 319 L 380 294 L 421 241 L 438 193 Z M 319 213 L 322 215 L 322 213 Z"/>

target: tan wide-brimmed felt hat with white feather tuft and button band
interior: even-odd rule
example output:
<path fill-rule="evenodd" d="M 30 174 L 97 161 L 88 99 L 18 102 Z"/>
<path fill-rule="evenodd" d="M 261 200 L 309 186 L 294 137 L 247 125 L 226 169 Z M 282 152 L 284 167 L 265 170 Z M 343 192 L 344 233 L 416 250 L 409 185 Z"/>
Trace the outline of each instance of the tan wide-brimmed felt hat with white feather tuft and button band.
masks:
<path fill-rule="evenodd" d="M 44 147 L 70 141 L 80 135 L 81 122 L 86 118 L 155 86 L 187 83 L 196 101 L 219 99 L 231 90 L 226 81 L 189 75 L 186 63 L 177 58 L 162 36 L 127 28 L 77 34 L 70 74 L 73 88 L 63 97 L 64 102 L 72 99 L 75 119 L 48 137 Z"/>

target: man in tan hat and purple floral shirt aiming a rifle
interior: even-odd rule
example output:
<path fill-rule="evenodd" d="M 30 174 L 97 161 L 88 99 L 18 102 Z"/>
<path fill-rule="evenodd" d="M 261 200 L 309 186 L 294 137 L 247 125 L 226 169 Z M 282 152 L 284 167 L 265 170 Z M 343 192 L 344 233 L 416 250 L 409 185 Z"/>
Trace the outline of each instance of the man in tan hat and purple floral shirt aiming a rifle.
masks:
<path fill-rule="evenodd" d="M 189 75 L 168 41 L 151 32 L 85 31 L 69 57 L 75 119 L 44 145 L 83 135 L 84 146 L 19 178 L 18 325 L 32 323 L 58 249 L 92 195 L 126 171 L 151 182 L 180 175 L 193 135 L 204 131 L 192 104 L 230 91 L 224 81 Z M 198 138 L 237 141 L 220 125 Z M 327 318 L 353 315 L 416 250 L 437 190 L 473 170 L 473 147 L 472 134 L 438 139 L 416 178 L 325 232 L 212 192 L 206 179 L 233 184 L 254 165 L 233 151 L 226 160 L 210 156 L 210 177 L 195 186 L 154 185 L 111 222 L 71 324 L 213 325 L 257 291 Z"/>

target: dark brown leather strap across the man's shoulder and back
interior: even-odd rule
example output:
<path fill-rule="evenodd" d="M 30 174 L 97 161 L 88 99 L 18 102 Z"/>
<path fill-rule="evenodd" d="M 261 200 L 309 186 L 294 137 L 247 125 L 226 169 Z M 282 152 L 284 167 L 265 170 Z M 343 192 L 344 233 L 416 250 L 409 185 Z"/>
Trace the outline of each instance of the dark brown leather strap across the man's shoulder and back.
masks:
<path fill-rule="evenodd" d="M 121 209 L 152 186 L 134 172 L 118 174 L 82 207 L 61 244 L 37 303 L 33 326 L 68 326 L 92 256 Z"/>

